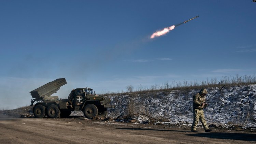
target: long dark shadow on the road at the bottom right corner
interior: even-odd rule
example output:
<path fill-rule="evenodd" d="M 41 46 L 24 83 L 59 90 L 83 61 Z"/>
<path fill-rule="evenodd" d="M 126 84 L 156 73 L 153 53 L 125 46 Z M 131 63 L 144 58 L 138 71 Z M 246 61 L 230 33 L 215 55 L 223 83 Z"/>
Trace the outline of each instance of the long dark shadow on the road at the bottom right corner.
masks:
<path fill-rule="evenodd" d="M 207 138 L 213 138 L 213 139 L 256 141 L 256 134 L 255 133 L 209 132 L 209 133 L 196 133 L 196 134 L 185 134 L 185 135 L 198 136 L 198 137 L 207 137 Z"/>

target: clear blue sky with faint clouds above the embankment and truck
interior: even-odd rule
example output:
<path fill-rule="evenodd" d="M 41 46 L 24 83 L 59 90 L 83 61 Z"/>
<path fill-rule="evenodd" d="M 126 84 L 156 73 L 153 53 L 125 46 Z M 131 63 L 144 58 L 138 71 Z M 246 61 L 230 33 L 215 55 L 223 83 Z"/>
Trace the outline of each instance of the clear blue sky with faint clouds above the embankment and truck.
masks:
<path fill-rule="evenodd" d="M 56 78 L 98 93 L 256 72 L 252 0 L 0 1 L 0 109 Z M 166 35 L 165 27 L 198 18 Z"/>

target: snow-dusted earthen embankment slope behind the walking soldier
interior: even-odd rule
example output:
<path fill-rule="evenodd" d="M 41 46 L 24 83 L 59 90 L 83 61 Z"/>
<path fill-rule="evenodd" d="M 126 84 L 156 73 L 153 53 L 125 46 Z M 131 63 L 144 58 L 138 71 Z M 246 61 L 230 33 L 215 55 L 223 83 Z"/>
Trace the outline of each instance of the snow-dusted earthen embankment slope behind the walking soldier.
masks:
<path fill-rule="evenodd" d="M 207 99 L 217 92 L 219 87 L 206 89 L 208 91 Z M 116 118 L 120 115 L 127 115 L 129 103 L 134 102 L 136 113 L 191 124 L 193 121 L 192 98 L 199 90 L 172 90 L 109 96 L 115 108 L 109 109 L 108 116 Z M 238 124 L 256 127 L 255 101 L 256 85 L 225 86 L 208 101 L 209 106 L 204 109 L 204 114 L 208 124 Z"/>

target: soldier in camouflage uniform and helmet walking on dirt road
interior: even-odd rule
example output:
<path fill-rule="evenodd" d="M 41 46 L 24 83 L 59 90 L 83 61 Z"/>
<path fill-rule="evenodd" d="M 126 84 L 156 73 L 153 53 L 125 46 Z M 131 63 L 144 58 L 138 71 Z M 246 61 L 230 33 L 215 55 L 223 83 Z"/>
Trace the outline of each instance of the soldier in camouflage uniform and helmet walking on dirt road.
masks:
<path fill-rule="evenodd" d="M 199 91 L 199 93 L 196 93 L 193 96 L 194 121 L 193 121 L 193 124 L 192 124 L 192 127 L 191 127 L 192 132 L 198 132 L 198 130 L 196 130 L 196 127 L 198 125 L 199 120 L 201 121 L 205 132 L 212 131 L 211 129 L 208 128 L 208 125 L 206 123 L 206 119 L 204 118 L 204 114 L 203 114 L 203 107 L 205 106 L 205 104 L 207 105 L 207 103 L 205 103 L 205 95 L 207 93 L 208 93 L 207 90 L 202 88 Z"/>

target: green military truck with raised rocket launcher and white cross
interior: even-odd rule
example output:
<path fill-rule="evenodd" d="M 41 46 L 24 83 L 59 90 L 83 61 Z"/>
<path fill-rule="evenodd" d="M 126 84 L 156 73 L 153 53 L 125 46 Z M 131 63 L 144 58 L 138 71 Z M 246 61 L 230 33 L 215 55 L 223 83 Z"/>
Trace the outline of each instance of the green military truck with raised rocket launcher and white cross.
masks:
<path fill-rule="evenodd" d="M 91 88 L 76 88 L 71 90 L 68 99 L 59 99 L 52 96 L 61 86 L 67 84 L 65 78 L 58 78 L 37 89 L 30 91 L 31 106 L 35 117 L 49 118 L 68 117 L 72 111 L 82 111 L 85 117 L 105 117 L 108 108 L 114 108 L 110 99 L 96 95 Z"/>

